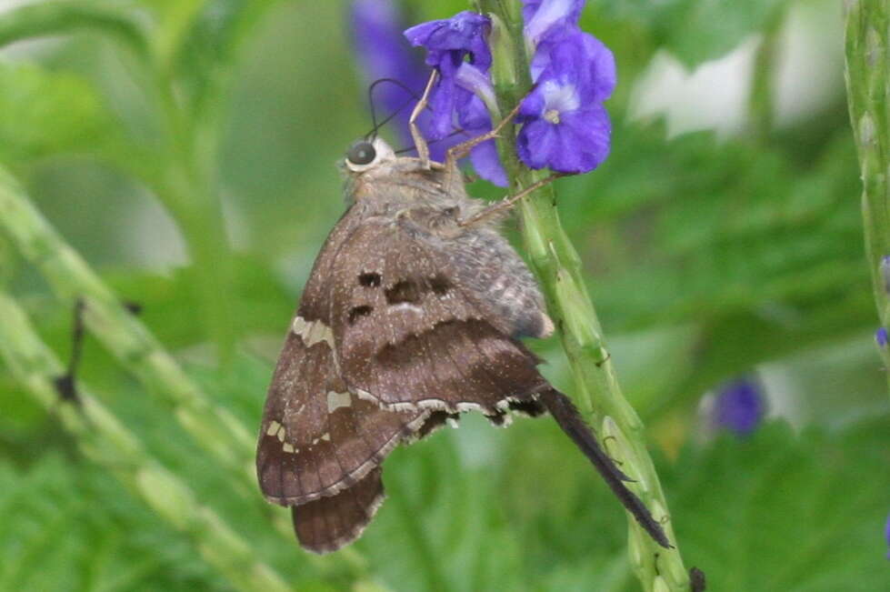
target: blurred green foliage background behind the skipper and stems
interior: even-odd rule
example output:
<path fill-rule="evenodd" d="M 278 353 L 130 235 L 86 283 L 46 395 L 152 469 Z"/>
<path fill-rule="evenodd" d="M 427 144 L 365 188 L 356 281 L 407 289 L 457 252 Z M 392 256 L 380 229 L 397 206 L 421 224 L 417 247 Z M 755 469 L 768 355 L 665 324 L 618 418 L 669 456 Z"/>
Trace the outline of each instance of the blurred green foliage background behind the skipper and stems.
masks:
<path fill-rule="evenodd" d="M 582 18 L 619 65 L 613 154 L 557 184 L 560 214 L 713 590 L 890 589 L 890 406 L 838 4 L 591 0 Z M 468 7 L 400 6 L 407 24 Z M 335 162 L 370 127 L 348 9 L 0 2 L 0 165 L 250 430 L 344 207 Z M 0 265 L 66 359 L 74 303 L 3 234 Z M 571 391 L 556 341 L 530 345 Z M 742 375 L 770 409 L 749 436 L 709 415 Z M 355 551 L 309 560 L 90 336 L 79 377 L 295 589 L 639 587 L 625 517 L 550 420 L 467 416 L 397 450 Z M 2 365 L 0 402 L 0 589 L 228 589 Z"/>

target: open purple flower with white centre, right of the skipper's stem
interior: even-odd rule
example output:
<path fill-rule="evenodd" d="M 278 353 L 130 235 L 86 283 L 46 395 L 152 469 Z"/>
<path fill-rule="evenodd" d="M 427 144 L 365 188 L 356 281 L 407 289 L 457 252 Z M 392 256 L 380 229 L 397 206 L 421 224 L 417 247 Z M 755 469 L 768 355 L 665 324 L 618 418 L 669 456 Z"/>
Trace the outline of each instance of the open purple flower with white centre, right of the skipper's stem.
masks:
<path fill-rule="evenodd" d="M 601 101 L 615 88 L 615 61 L 605 45 L 581 32 L 549 48 L 548 57 L 519 110 L 525 124 L 519 158 L 531 168 L 585 173 L 609 154 L 612 125 Z"/>

